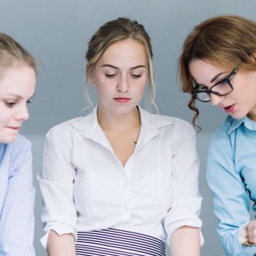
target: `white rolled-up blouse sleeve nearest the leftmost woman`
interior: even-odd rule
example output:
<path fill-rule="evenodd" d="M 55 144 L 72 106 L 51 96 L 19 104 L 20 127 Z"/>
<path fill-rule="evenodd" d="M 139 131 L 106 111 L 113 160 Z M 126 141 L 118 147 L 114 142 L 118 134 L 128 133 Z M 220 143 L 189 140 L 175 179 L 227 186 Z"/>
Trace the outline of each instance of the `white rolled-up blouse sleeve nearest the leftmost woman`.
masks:
<path fill-rule="evenodd" d="M 76 208 L 73 202 L 73 180 L 76 170 L 70 160 L 71 139 L 66 131 L 50 130 L 44 146 L 43 171 L 37 176 L 43 197 L 42 220 L 46 247 L 52 229 L 59 235 L 76 236 Z"/>

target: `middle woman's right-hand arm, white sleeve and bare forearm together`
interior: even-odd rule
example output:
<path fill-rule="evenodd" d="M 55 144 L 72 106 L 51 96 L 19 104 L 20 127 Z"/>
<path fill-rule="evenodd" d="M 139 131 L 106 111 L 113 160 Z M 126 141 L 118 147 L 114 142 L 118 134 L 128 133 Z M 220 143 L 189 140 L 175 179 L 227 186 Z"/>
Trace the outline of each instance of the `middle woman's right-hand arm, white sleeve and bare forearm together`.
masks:
<path fill-rule="evenodd" d="M 200 255 L 201 196 L 198 191 L 199 158 L 195 133 L 183 121 L 176 127 L 172 141 L 172 204 L 165 217 L 171 254 Z M 187 251 L 189 253 L 187 254 Z"/>

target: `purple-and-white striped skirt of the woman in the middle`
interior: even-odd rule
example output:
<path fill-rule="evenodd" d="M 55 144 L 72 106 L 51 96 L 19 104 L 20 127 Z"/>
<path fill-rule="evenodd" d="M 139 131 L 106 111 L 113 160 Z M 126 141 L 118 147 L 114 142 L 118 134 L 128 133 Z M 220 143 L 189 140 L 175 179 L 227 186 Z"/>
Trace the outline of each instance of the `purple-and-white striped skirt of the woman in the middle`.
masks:
<path fill-rule="evenodd" d="M 77 233 L 76 255 L 165 256 L 165 244 L 141 233 L 101 229 Z"/>

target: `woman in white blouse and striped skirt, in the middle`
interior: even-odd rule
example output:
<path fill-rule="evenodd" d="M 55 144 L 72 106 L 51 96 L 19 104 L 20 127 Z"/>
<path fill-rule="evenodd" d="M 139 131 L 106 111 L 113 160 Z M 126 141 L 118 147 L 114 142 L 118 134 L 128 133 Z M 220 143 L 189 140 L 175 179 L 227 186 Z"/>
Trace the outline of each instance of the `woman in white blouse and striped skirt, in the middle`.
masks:
<path fill-rule="evenodd" d="M 48 132 L 42 244 L 48 255 L 200 254 L 201 196 L 195 133 L 187 122 L 140 108 L 155 85 L 151 41 L 126 18 L 88 44 L 93 112 Z"/>

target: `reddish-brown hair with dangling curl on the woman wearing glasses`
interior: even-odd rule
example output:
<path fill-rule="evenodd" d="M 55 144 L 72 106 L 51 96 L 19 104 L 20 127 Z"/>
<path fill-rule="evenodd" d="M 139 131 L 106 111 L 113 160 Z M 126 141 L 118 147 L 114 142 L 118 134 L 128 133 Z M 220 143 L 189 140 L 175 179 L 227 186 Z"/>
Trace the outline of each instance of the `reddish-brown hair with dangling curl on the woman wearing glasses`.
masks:
<path fill-rule="evenodd" d="M 203 59 L 224 69 L 256 70 L 256 23 L 240 16 L 215 16 L 200 23 L 188 34 L 179 59 L 180 82 L 183 92 L 193 91 L 189 64 Z M 188 107 L 194 111 L 193 124 L 199 116 L 195 98 Z M 198 126 L 199 127 L 199 126 Z"/>

